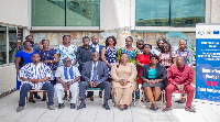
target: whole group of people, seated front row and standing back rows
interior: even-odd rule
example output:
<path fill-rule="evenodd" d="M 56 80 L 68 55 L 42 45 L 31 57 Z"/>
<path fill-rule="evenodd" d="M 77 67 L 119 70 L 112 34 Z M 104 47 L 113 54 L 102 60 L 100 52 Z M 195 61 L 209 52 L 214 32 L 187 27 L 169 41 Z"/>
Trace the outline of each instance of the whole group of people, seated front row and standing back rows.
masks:
<path fill-rule="evenodd" d="M 106 110 L 110 110 L 110 95 L 116 95 L 116 104 L 123 111 L 128 109 L 132 102 L 132 93 L 141 85 L 152 102 L 151 110 L 158 110 L 155 101 L 161 90 L 165 89 L 167 104 L 163 111 L 172 110 L 172 93 L 175 90 L 184 90 L 187 92 L 185 110 L 195 112 L 191 108 L 195 90 L 190 85 L 194 80 L 190 67 L 195 59 L 193 51 L 186 46 L 186 40 L 179 41 L 179 48 L 175 53 L 172 53 L 170 44 L 164 38 L 157 41 L 157 47 L 154 49 L 142 40 L 136 42 L 136 48 L 133 47 L 131 36 L 125 38 L 125 46 L 119 49 L 116 47 L 114 36 L 107 37 L 105 46 L 99 45 L 96 35 L 91 37 L 91 42 L 89 45 L 90 38 L 85 36 L 82 46 L 76 47 L 70 44 L 70 35 L 64 35 L 63 44 L 56 49 L 50 48 L 48 40 L 42 40 L 43 46 L 40 48 L 34 45 L 33 36 L 26 36 L 15 55 L 16 88 L 20 89 L 16 111 L 24 109 L 25 98 L 31 89 L 46 90 L 50 110 L 55 109 L 54 93 L 58 109 L 63 109 L 65 106 L 62 92 L 69 90 L 70 109 L 80 110 L 86 108 L 87 88 L 105 89 L 105 93 L 100 92 L 99 96 L 103 96 L 102 107 Z M 78 91 L 80 104 L 76 107 Z M 94 100 L 92 96 L 94 92 L 87 95 L 90 100 Z M 41 99 L 37 93 L 34 97 Z M 64 98 L 67 98 L 67 92 Z M 42 100 L 45 100 L 45 92 Z M 35 102 L 31 93 L 29 101 Z M 177 102 L 184 101 L 185 99 L 179 99 Z"/>

